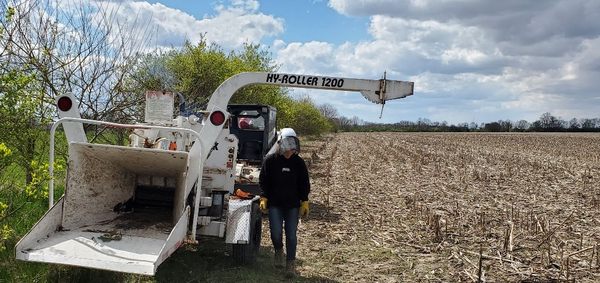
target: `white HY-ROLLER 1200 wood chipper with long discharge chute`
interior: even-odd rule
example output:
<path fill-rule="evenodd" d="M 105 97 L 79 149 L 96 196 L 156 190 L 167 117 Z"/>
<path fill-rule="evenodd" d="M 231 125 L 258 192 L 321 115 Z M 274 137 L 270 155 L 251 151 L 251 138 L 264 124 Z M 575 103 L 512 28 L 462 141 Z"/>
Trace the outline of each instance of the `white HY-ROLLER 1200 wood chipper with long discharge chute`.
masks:
<path fill-rule="evenodd" d="M 116 124 L 81 119 L 72 95 L 57 98 L 68 140 L 64 195 L 16 246 L 25 261 L 154 275 L 184 242 L 215 236 L 233 255 L 252 260 L 260 246 L 258 196 L 233 195 L 238 137 L 230 133 L 227 104 L 251 84 L 360 91 L 376 103 L 413 93 L 413 83 L 275 73 L 240 73 L 212 94 L 205 110 L 173 119 L 173 97 L 149 92 L 146 121 Z M 84 124 L 130 129 L 126 146 L 88 140 Z M 236 172 L 237 167 L 237 172 Z"/>

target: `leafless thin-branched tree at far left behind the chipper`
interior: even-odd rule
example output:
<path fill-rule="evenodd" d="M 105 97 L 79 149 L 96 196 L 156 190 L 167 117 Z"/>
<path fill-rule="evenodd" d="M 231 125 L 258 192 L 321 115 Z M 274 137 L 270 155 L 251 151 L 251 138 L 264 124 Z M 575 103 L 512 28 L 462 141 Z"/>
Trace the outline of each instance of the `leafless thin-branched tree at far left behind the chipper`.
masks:
<path fill-rule="evenodd" d="M 120 5 L 83 0 L 0 0 L 0 75 L 17 72 L 31 79 L 22 91 L 28 102 L 33 101 L 33 110 L 18 114 L 28 115 L 25 120 L 29 125 L 3 124 L 3 128 L 15 128 L 4 139 L 18 148 L 28 182 L 33 169 L 29 164 L 36 153 L 43 152 L 38 147 L 46 144 L 36 141 L 46 138 L 43 129 L 55 116 L 54 98 L 58 95 L 73 93 L 84 117 L 129 119 L 129 109 L 137 101 L 131 99 L 134 96 L 123 82 L 150 38 L 150 29 L 134 32 L 132 29 L 140 26 L 137 17 L 120 20 Z"/>

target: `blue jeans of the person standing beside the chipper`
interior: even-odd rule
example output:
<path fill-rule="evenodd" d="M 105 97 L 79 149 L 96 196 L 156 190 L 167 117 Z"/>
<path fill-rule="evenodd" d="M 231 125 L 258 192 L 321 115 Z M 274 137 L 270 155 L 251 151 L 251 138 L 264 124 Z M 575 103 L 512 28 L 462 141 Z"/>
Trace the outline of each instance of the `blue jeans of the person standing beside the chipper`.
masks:
<path fill-rule="evenodd" d="M 285 224 L 285 225 L 284 225 Z M 298 238 L 298 208 L 269 207 L 269 229 L 271 241 L 276 250 L 283 249 L 283 228 L 285 226 L 285 252 L 287 260 L 296 259 Z"/>

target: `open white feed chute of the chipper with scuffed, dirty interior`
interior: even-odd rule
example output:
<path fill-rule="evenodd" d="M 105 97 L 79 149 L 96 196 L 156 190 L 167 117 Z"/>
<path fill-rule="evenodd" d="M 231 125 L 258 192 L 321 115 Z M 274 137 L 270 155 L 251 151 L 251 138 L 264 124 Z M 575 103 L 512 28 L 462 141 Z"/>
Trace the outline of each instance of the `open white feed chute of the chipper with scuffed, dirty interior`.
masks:
<path fill-rule="evenodd" d="M 17 258 L 149 274 L 183 242 L 188 153 L 71 143 L 65 195 Z M 175 205 L 174 205 L 175 204 Z"/>

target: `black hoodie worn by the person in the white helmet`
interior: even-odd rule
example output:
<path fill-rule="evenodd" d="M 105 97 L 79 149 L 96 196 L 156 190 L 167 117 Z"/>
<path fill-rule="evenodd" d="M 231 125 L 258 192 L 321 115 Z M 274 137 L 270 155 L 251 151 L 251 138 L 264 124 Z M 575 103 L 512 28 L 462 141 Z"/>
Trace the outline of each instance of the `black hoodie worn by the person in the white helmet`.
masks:
<path fill-rule="evenodd" d="M 304 160 L 297 154 L 289 159 L 277 153 L 268 155 L 260 170 L 260 187 L 269 206 L 300 207 L 300 202 L 307 201 L 310 193 Z"/>

